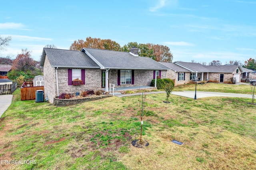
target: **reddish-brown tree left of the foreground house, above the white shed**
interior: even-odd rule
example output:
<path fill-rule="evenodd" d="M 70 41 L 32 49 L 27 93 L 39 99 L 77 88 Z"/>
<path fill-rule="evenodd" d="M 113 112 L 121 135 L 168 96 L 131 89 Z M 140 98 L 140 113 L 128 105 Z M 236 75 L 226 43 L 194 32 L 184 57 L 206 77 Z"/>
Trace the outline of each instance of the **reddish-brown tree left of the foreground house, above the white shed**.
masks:
<path fill-rule="evenodd" d="M 36 61 L 31 58 L 28 49 L 22 49 L 22 53 L 18 54 L 12 63 L 12 70 L 31 72 L 35 70 Z"/>

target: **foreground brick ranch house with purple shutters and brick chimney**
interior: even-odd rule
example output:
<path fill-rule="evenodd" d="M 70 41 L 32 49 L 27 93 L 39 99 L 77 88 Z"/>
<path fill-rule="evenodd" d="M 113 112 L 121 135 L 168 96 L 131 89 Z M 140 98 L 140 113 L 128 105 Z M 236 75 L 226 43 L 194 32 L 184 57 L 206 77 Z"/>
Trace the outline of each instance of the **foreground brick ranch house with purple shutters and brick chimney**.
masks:
<path fill-rule="evenodd" d="M 49 102 L 62 93 L 116 87 L 150 86 L 151 80 L 166 78 L 168 67 L 130 52 L 83 48 L 81 51 L 44 48 L 40 66 L 44 68 L 44 93 Z M 75 79 L 82 80 L 75 86 Z"/>

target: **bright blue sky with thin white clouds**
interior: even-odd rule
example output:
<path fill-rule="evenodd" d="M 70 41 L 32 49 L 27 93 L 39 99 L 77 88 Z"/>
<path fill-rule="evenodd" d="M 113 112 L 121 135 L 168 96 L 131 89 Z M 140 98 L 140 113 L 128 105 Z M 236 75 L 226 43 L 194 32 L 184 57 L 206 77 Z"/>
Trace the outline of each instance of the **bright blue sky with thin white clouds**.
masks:
<path fill-rule="evenodd" d="M 4 0 L 0 35 L 12 41 L 0 56 L 43 47 L 69 49 L 86 37 L 166 45 L 173 61 L 256 58 L 256 0 Z"/>

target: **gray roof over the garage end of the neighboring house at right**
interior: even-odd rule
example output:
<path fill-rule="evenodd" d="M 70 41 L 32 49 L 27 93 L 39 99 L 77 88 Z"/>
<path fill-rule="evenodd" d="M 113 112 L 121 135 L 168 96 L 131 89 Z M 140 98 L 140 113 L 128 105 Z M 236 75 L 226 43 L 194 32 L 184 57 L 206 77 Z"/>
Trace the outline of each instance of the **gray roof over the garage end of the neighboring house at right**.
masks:
<path fill-rule="evenodd" d="M 204 67 L 209 70 L 208 72 L 227 72 L 227 73 L 232 73 L 237 68 L 239 68 L 240 71 L 243 72 L 241 67 L 238 66 L 238 65 L 220 65 L 220 66 L 204 66 Z"/>

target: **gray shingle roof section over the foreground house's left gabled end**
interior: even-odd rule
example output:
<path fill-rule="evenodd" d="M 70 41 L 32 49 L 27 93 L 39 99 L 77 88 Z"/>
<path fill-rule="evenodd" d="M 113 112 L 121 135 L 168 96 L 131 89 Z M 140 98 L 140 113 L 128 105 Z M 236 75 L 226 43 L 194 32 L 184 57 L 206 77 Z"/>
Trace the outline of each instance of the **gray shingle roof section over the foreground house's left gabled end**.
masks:
<path fill-rule="evenodd" d="M 52 67 L 100 68 L 82 51 L 44 48 L 40 66 L 44 64 L 45 55 L 48 57 Z"/>

